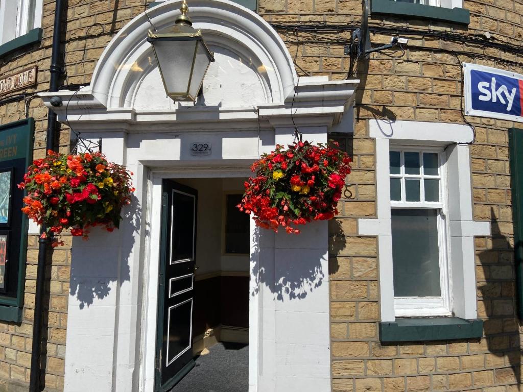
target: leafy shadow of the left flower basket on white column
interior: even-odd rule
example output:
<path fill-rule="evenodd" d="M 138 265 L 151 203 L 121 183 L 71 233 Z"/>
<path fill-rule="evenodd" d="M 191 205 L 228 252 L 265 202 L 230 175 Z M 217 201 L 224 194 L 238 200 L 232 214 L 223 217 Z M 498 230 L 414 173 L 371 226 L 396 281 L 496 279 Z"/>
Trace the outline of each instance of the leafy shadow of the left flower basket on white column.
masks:
<path fill-rule="evenodd" d="M 75 252 L 76 257 L 72 258 L 69 293 L 76 296 L 81 309 L 85 305 L 92 305 L 95 298 L 103 299 L 108 296 L 112 282 L 120 282 L 121 285 L 130 281 L 129 256 L 134 246 L 134 238 L 149 233 L 140 233 L 142 209 L 136 197 L 133 197 L 129 206 L 124 207 L 122 213 L 122 232 L 119 233 L 118 229 L 113 233 L 95 229 L 93 238 L 87 244 L 81 243 L 76 246 L 79 249 Z M 120 241 L 120 247 L 112 245 L 115 240 Z M 95 247 L 94 241 L 100 246 Z M 87 258 L 84 252 L 89 252 L 91 256 Z"/>

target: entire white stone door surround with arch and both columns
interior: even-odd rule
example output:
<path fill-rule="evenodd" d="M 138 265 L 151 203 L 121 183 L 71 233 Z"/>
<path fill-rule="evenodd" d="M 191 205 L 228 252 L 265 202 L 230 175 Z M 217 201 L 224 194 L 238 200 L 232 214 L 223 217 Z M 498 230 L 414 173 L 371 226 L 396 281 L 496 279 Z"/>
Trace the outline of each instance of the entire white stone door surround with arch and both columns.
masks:
<path fill-rule="evenodd" d="M 180 4 L 147 11 L 158 31 L 173 25 Z M 352 131 L 357 80 L 298 80 L 285 44 L 252 11 L 224 0 L 189 6 L 216 59 L 202 105 L 166 97 L 145 13 L 112 39 L 89 86 L 41 94 L 48 107 L 60 96 L 59 121 L 101 137 L 137 188 L 119 230 L 73 241 L 66 392 L 155 390 L 162 178 L 247 177 L 260 153 L 292 141 L 291 108 L 304 140 Z M 199 141 L 212 144 L 211 155 L 189 154 Z M 326 223 L 299 236 L 252 227 L 251 238 L 249 392 L 330 390 Z"/>

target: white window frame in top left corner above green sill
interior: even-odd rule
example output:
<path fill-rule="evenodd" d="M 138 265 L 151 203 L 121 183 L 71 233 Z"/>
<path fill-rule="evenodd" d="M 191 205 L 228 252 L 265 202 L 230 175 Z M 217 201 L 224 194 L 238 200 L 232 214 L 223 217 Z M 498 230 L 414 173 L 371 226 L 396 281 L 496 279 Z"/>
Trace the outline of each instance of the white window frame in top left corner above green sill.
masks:
<path fill-rule="evenodd" d="M 0 2 L 0 45 L 42 26 L 43 0 Z M 34 13 L 34 17 L 30 15 Z M 33 19 L 30 21 L 30 19 Z"/>

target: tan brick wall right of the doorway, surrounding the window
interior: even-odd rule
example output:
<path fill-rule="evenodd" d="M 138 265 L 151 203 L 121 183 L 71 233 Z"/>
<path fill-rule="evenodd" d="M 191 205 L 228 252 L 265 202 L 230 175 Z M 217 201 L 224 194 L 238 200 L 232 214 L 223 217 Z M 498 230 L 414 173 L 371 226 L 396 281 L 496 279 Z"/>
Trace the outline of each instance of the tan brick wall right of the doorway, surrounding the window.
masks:
<path fill-rule="evenodd" d="M 350 32 L 361 18 L 358 0 L 260 0 L 263 17 L 279 29 L 301 75 L 347 76 L 343 55 Z M 371 17 L 371 26 L 398 26 L 467 34 L 489 31 L 498 42 L 520 45 L 523 3 L 512 0 L 465 1 L 471 11 L 467 27 Z M 293 24 L 329 24 L 333 31 L 295 31 Z M 338 27 L 338 31 L 334 31 Z M 372 33 L 372 43 L 388 43 L 392 34 Z M 476 130 L 470 147 L 474 219 L 490 221 L 492 237 L 477 237 L 478 316 L 481 339 L 383 345 L 378 338 L 379 258 L 377 238 L 358 236 L 357 218 L 376 216 L 374 140 L 368 119 L 464 123 L 460 64 L 472 62 L 521 73 L 523 68 L 497 59 L 521 61 L 521 54 L 465 44 L 428 34 L 410 38 L 404 53 L 374 53 L 360 64 L 354 135 L 339 137 L 353 154 L 351 184 L 340 201 L 340 215 L 329 226 L 331 278 L 332 387 L 334 391 L 510 392 L 521 383 L 521 332 L 516 318 L 513 225 L 507 130 L 521 124 L 467 117 Z M 321 41 L 321 42 L 318 42 Z M 483 57 L 488 55 L 493 57 Z M 335 135 L 333 135 L 335 136 Z"/>

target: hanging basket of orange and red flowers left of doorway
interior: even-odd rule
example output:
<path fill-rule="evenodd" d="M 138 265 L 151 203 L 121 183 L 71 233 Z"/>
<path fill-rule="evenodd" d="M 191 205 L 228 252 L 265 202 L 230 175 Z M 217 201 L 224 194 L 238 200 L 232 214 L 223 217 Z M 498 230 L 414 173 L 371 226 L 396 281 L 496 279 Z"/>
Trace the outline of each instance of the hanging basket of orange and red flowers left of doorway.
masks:
<path fill-rule="evenodd" d="M 68 228 L 73 236 L 84 239 L 89 227 L 103 226 L 112 232 L 120 224 L 122 207 L 131 202 L 130 175 L 100 153 L 48 151 L 46 158 L 33 160 L 24 182 L 18 185 L 27 191 L 22 212 L 46 225 L 53 246 L 63 244 L 56 236 Z"/>

